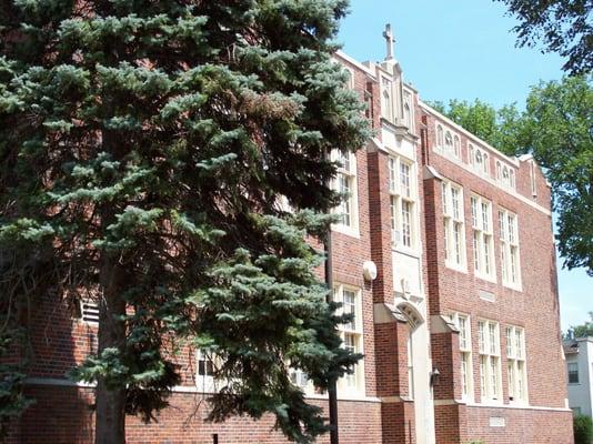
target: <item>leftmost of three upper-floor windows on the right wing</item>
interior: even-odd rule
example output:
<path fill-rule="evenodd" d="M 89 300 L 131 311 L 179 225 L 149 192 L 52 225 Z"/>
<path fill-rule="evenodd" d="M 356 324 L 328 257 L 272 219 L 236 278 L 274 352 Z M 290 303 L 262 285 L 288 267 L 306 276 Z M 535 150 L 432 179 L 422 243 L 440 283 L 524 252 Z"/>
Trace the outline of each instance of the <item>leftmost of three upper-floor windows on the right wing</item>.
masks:
<path fill-rule="evenodd" d="M 452 182 L 443 181 L 442 205 L 445 264 L 454 269 L 465 269 L 465 229 L 462 188 Z"/>

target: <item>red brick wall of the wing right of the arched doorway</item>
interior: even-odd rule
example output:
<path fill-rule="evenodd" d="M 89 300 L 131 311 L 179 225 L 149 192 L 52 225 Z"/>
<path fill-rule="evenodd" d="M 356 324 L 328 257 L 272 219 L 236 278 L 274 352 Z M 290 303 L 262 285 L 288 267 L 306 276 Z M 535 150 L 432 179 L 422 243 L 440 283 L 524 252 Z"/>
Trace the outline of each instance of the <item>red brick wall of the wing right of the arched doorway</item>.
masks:
<path fill-rule="evenodd" d="M 431 115 L 423 109 L 418 112 L 424 113 L 428 130 L 428 147 L 425 147 L 425 162 L 431 165 L 440 175 L 463 186 L 463 205 L 465 216 L 465 243 L 466 243 L 466 271 L 459 272 L 444 265 L 444 241 L 442 228 L 442 204 L 441 204 L 441 181 L 430 179 L 424 181 L 425 214 L 426 222 L 426 256 L 429 272 L 429 294 L 431 315 L 449 314 L 451 312 L 462 312 L 471 316 L 472 333 L 472 361 L 473 361 L 473 386 L 474 400 L 480 402 L 480 366 L 479 366 L 479 343 L 478 343 L 478 319 L 494 320 L 500 323 L 501 342 L 501 367 L 503 402 L 509 403 L 507 381 L 506 381 L 506 325 L 519 325 L 525 329 L 526 343 L 526 369 L 529 386 L 529 404 L 542 407 L 564 407 L 566 397 L 566 384 L 564 362 L 562 361 L 560 323 L 559 323 L 559 300 L 556 289 L 556 269 L 554 258 L 554 245 L 551 231 L 551 218 L 545 213 L 550 210 L 550 192 L 545 184 L 541 171 L 536 169 L 537 196 L 531 193 L 531 176 L 529 172 L 529 161 L 519 162 L 516 167 L 516 190 L 523 195 L 517 198 L 513 193 L 484 180 L 483 178 L 463 169 L 455 161 L 452 161 L 432 150 L 435 139 L 435 121 L 438 117 Z M 443 123 L 446 128 L 446 123 Z M 468 138 L 458 132 L 461 137 L 463 148 L 463 159 L 466 161 L 465 150 Z M 473 141 L 474 145 L 478 145 Z M 491 174 L 495 174 L 495 159 L 500 158 L 495 152 L 490 152 Z M 502 159 L 502 158 L 500 158 Z M 472 250 L 472 228 L 470 196 L 476 193 L 492 202 L 494 259 L 496 269 L 496 282 L 492 283 L 474 275 L 473 272 L 473 250 Z M 544 211 L 533 208 L 526 201 L 543 206 Z M 502 285 L 501 263 L 500 263 L 500 233 L 497 225 L 497 210 L 504 208 L 514 212 L 519 221 L 519 242 L 522 291 L 516 291 Z M 432 229 L 431 229 L 432 228 Z M 480 291 L 488 291 L 494 294 L 495 302 L 488 302 L 479 297 Z M 456 345 L 456 333 L 451 335 L 451 340 L 445 334 L 432 335 L 432 354 L 435 365 L 441 371 L 441 384 L 445 387 L 435 387 L 435 397 L 443 400 L 459 398 L 459 352 Z M 449 347 L 452 347 L 450 351 Z M 451 360 L 450 353 L 451 352 Z M 440 363 L 440 364 L 438 364 Z M 450 365 L 449 370 L 445 365 Z M 454 396 L 452 394 L 454 393 Z M 436 407 L 436 430 L 439 443 L 458 442 L 454 433 L 440 428 L 446 423 L 446 416 L 451 415 L 450 406 Z M 502 410 L 506 417 L 507 427 L 501 427 L 491 432 L 490 427 L 480 421 L 475 412 L 485 412 L 483 407 L 468 407 L 468 438 L 483 437 L 491 442 L 570 442 L 572 424 L 570 412 L 562 411 L 540 411 L 505 408 Z M 537 412 L 537 414 L 533 413 Z M 463 412 L 456 415 L 463 416 Z M 530 421 L 539 421 L 546 417 L 554 423 L 554 431 L 545 428 L 539 431 L 535 438 L 526 431 L 525 440 L 513 441 L 515 436 L 511 424 L 526 424 Z M 460 421 L 463 420 L 462 417 Z M 460 426 L 461 427 L 461 426 Z M 550 427 L 549 427 L 550 428 Z M 482 431 L 482 432 L 480 432 Z M 489 435 L 497 433 L 497 437 Z M 460 432 L 461 438 L 463 434 Z M 560 438 L 559 436 L 562 436 Z M 492 440 L 492 441 L 491 441 Z M 505 441 L 506 440 L 506 441 Z M 540 440 L 540 441 L 537 441 Z M 566 441 L 567 440 L 567 441 Z"/>

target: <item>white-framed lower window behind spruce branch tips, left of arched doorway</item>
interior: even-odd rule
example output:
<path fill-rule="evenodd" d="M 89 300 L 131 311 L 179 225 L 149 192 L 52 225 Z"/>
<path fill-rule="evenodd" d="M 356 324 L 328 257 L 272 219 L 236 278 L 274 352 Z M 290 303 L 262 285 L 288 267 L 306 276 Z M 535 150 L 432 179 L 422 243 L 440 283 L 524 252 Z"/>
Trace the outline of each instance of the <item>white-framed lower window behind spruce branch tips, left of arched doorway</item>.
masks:
<path fill-rule="evenodd" d="M 348 303 L 344 304 L 346 292 L 354 297 L 354 321 L 348 324 L 339 324 L 338 331 L 342 339 L 342 346 L 346 347 L 348 341 L 353 340 L 353 352 L 362 354 L 364 353 L 362 291 L 356 286 L 334 283 L 333 300 L 342 303 L 342 306 L 338 310 L 339 314 L 343 314 L 346 306 L 352 306 Z M 338 381 L 338 394 L 339 396 L 364 396 L 364 359 L 354 364 L 352 374 L 346 374 Z"/>

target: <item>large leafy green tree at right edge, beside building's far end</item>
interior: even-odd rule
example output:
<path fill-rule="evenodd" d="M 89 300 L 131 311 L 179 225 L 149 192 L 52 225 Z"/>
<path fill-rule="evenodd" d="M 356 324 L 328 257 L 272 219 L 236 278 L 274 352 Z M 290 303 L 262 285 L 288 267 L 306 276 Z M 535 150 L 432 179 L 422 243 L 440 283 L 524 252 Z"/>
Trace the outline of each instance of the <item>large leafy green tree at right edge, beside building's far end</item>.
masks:
<path fill-rule="evenodd" d="M 591 77 L 540 83 L 527 98 L 525 125 L 559 212 L 560 254 L 593 275 L 593 88 Z"/>

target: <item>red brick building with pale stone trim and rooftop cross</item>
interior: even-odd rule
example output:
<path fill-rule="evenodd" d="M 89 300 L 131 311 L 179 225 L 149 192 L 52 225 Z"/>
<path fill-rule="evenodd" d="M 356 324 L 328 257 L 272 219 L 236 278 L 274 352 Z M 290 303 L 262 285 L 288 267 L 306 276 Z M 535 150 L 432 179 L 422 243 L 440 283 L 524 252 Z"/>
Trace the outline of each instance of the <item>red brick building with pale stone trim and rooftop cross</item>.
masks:
<path fill-rule="evenodd" d="M 571 443 L 545 178 L 423 103 L 385 36 L 383 62 L 335 56 L 375 129 L 355 154 L 334 153 L 334 185 L 350 192 L 333 228 L 334 295 L 355 314 L 340 334 L 364 354 L 339 382 L 340 442 Z M 97 312 L 72 317 L 47 295 L 38 313 L 37 403 L 9 442 L 92 442 L 92 387 L 64 373 L 96 346 Z M 180 361 L 171 406 L 158 423 L 128 418 L 128 442 L 285 442 L 271 416 L 204 423 L 208 361 Z M 292 377 L 326 406 L 306 375 Z"/>

